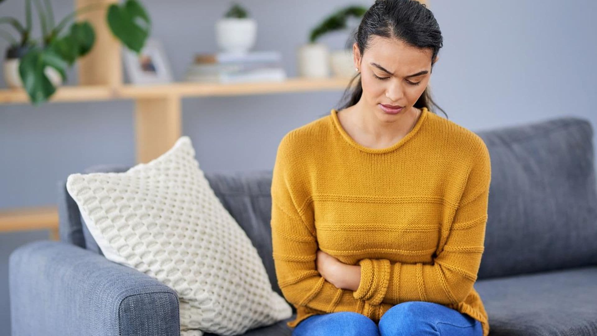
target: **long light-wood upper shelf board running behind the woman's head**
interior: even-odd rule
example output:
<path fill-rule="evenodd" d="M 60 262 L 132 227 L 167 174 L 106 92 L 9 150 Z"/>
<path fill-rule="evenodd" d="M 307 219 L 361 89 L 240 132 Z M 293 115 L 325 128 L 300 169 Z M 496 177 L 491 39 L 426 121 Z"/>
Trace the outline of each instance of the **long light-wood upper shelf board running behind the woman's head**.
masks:
<path fill-rule="evenodd" d="M 112 99 L 146 99 L 160 97 L 239 96 L 244 94 L 290 93 L 318 90 L 343 90 L 349 78 L 288 78 L 282 82 L 254 82 L 238 84 L 176 82 L 168 84 L 117 87 L 105 85 L 65 85 L 57 88 L 49 102 L 87 102 Z M 29 103 L 21 88 L 0 90 L 0 104 Z"/>

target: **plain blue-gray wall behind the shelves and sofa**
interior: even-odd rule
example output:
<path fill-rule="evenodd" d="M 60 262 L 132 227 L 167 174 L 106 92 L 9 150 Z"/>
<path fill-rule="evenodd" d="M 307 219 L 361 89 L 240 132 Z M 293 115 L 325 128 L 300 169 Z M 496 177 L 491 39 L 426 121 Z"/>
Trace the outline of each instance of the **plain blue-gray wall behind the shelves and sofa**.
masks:
<path fill-rule="evenodd" d="M 597 125 L 597 113 L 590 106 L 596 96 L 597 2 L 430 1 L 444 35 L 430 85 L 450 120 L 482 130 L 576 115 Z M 23 17 L 22 2 L 5 0 L 0 16 Z M 72 1 L 52 2 L 57 17 L 72 9 Z M 226 11 L 227 1 L 143 2 L 153 19 L 153 36 L 164 44 L 176 80 L 183 79 L 193 54 L 216 50 L 214 18 Z M 258 21 L 256 50 L 281 51 L 291 77 L 297 74 L 296 48 L 306 41 L 309 29 L 338 7 L 355 3 L 240 2 Z M 347 32 L 334 33 L 324 41 L 341 48 L 346 38 Z M 0 50 L 5 47 L 0 42 Z M 76 83 L 76 70 L 69 72 L 69 78 L 69 84 Z M 189 98 L 183 101 L 183 133 L 193 140 L 206 172 L 271 169 L 282 136 L 329 113 L 340 94 Z M 69 173 L 93 164 L 134 164 L 133 102 L 2 105 L 0 143 L 0 208 L 54 204 L 56 181 Z M 46 236 L 45 232 L 0 235 L 1 335 L 10 330 L 8 253 Z"/>

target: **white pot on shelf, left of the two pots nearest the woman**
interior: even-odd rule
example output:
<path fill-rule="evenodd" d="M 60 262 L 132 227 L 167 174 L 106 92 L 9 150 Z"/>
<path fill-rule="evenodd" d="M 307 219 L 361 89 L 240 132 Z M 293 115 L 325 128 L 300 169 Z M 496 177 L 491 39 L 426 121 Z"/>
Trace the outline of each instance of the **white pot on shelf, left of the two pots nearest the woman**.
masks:
<path fill-rule="evenodd" d="M 309 43 L 298 47 L 298 74 L 300 77 L 330 77 L 330 51 L 322 43 Z"/>

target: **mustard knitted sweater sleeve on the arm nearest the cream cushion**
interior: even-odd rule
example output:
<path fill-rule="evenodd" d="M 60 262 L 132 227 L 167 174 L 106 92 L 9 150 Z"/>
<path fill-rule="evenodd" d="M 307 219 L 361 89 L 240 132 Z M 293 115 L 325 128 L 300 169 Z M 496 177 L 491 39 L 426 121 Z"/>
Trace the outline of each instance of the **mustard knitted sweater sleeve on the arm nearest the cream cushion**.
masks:
<path fill-rule="evenodd" d="M 306 186 L 298 176 L 298 148 L 284 138 L 272 175 L 272 249 L 278 285 L 288 302 L 331 313 L 361 311 L 364 300 L 336 288 L 316 270 L 315 222 Z M 294 151 L 294 152 L 293 152 Z M 345 294 L 346 293 L 346 294 Z"/>

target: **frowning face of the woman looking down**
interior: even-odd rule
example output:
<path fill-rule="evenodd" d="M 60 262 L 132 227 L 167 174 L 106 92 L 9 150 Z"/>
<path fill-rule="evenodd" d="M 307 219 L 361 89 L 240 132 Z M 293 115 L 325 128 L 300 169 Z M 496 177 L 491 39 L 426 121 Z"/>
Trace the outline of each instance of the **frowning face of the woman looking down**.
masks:
<path fill-rule="evenodd" d="M 410 114 L 429 83 L 432 49 L 421 50 L 396 39 L 374 35 L 363 57 L 356 42 L 353 54 L 363 87 L 359 104 L 383 119 Z M 404 108 L 398 114 L 388 114 L 380 104 Z"/>

